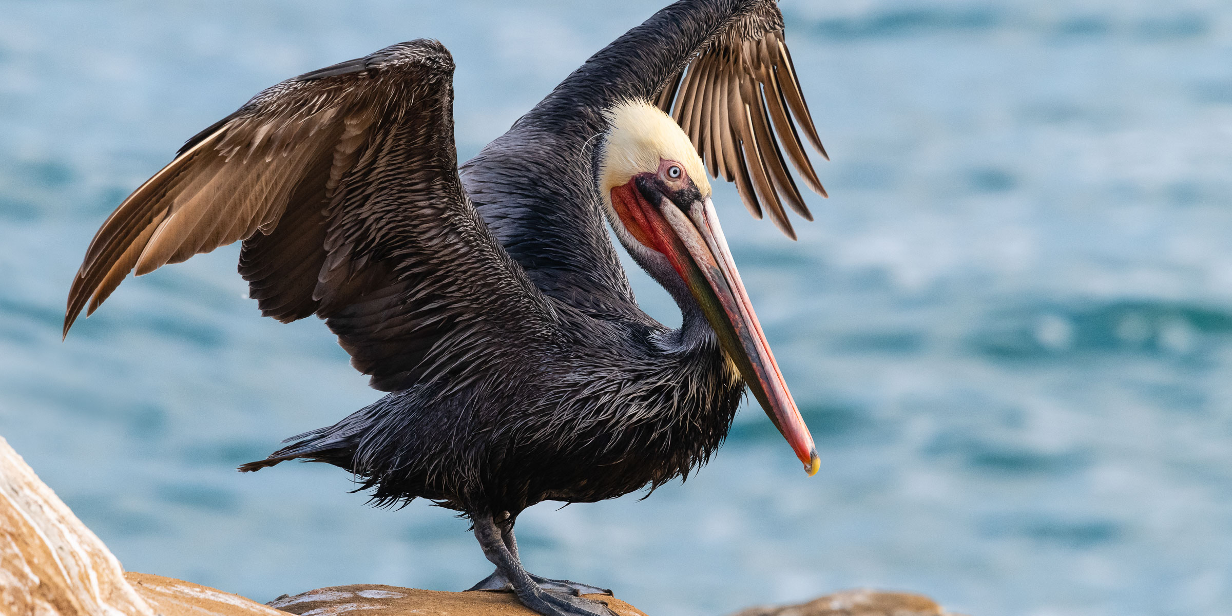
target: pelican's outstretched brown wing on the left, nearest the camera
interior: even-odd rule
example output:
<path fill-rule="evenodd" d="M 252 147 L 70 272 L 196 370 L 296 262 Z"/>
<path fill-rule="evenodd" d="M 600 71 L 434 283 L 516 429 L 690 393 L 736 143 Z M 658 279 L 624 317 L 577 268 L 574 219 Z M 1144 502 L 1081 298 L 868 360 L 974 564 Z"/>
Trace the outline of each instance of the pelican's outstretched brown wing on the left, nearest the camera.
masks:
<path fill-rule="evenodd" d="M 377 389 L 461 386 L 506 338 L 533 352 L 554 312 L 462 191 L 452 74 L 439 42 L 400 43 L 270 87 L 190 139 L 99 229 L 65 334 L 133 269 L 241 239 L 261 312 L 326 319 Z"/>

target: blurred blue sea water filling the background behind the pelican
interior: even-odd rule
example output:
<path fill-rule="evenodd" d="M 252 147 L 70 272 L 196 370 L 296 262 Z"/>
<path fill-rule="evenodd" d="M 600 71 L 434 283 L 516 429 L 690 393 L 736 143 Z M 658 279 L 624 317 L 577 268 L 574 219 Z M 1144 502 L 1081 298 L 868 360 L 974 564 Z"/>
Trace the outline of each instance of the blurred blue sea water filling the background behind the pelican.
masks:
<path fill-rule="evenodd" d="M 62 342 L 68 285 L 261 87 L 437 37 L 467 158 L 663 1 L 0 1 L 0 435 L 128 569 L 259 600 L 479 579 L 446 511 L 365 508 L 331 467 L 234 472 L 378 397 L 320 323 L 257 317 L 234 246 Z M 1232 614 L 1232 4 L 782 4 L 833 197 L 797 243 L 716 202 L 822 472 L 745 409 L 687 484 L 527 511 L 529 567 L 653 615 L 850 586 Z"/>

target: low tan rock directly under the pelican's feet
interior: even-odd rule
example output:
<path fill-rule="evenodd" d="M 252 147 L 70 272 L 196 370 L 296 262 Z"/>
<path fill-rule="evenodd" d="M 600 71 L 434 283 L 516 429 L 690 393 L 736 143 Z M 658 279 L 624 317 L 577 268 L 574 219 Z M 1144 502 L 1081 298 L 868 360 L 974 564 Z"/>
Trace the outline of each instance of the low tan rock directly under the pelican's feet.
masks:
<path fill-rule="evenodd" d="M 620 616 L 646 616 L 637 607 L 612 596 L 583 596 L 607 602 Z M 270 606 L 299 616 L 338 616 L 359 610 L 363 610 L 363 616 L 537 616 L 517 602 L 513 593 L 444 593 L 379 584 L 309 590 L 275 599 Z"/>

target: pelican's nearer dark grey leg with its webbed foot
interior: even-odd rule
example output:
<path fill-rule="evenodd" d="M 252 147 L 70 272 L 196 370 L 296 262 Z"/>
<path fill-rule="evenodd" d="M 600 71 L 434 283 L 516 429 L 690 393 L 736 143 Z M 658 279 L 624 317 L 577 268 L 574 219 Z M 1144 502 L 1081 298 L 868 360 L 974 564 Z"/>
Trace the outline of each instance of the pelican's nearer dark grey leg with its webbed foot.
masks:
<path fill-rule="evenodd" d="M 540 586 L 522 568 L 516 554 L 509 549 L 505 533 L 490 514 L 472 515 L 471 521 L 474 522 L 474 537 L 479 540 L 483 554 L 496 565 L 495 573 L 471 590 L 510 589 L 522 605 L 543 616 L 617 616 L 607 604 L 577 596 L 572 588 L 565 593 L 557 593 Z"/>

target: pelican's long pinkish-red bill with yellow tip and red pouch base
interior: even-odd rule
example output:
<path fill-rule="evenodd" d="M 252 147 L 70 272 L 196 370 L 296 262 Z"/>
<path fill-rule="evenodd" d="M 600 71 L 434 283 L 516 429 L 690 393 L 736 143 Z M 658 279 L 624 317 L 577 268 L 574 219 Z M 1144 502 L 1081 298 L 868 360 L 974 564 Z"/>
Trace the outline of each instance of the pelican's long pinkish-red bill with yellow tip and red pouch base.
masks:
<path fill-rule="evenodd" d="M 812 477 L 821 467 L 813 436 L 770 352 L 770 344 L 727 249 L 715 205 L 708 197 L 700 198 L 696 191 L 692 192 L 696 197 L 689 197 L 689 202 L 676 203 L 654 188 L 648 187 L 649 195 L 638 191 L 634 184 L 612 191 L 617 209 L 644 229 L 639 232 L 644 240 L 639 240 L 663 253 L 689 286 L 723 351 Z M 650 198 L 659 201 L 658 207 L 648 207 L 653 202 Z"/>

